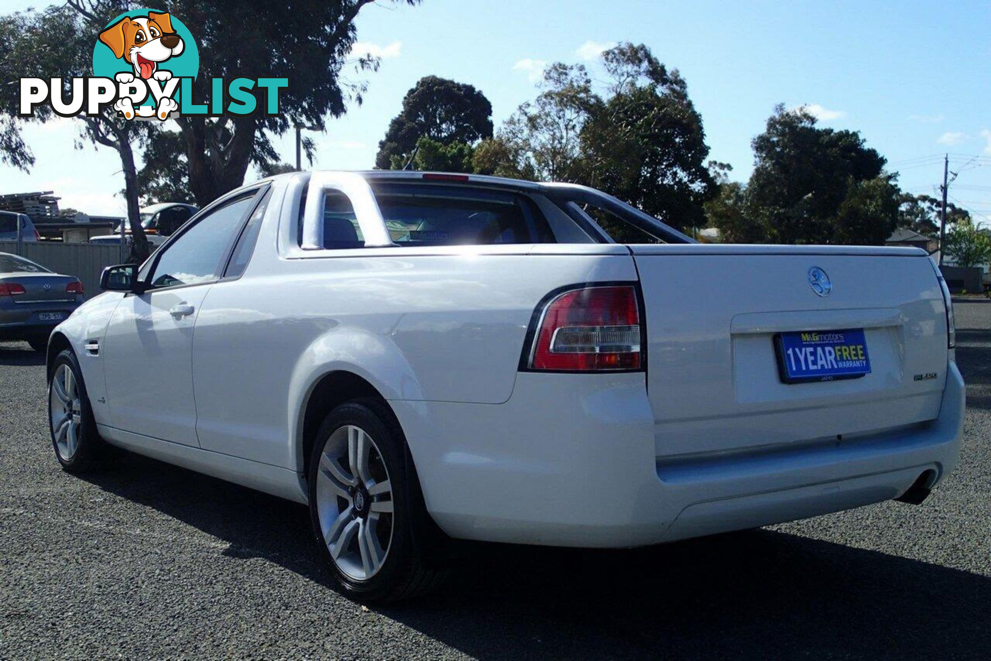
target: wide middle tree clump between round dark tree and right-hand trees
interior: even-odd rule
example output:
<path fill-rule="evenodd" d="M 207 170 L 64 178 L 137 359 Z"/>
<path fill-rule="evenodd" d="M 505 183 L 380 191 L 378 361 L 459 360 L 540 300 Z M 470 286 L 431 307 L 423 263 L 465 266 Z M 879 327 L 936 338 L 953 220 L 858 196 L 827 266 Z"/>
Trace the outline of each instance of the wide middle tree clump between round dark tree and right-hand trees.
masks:
<path fill-rule="evenodd" d="M 603 64 L 605 94 L 581 64 L 548 66 L 537 98 L 476 150 L 476 170 L 584 183 L 672 227 L 703 225 L 716 182 L 684 79 L 643 45 L 606 51 Z"/>

